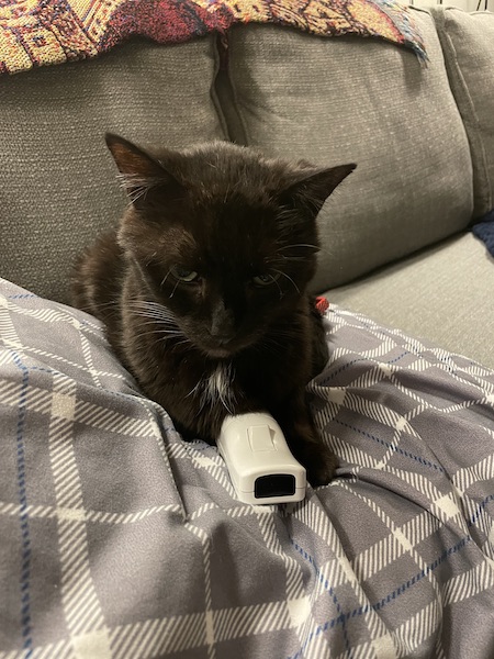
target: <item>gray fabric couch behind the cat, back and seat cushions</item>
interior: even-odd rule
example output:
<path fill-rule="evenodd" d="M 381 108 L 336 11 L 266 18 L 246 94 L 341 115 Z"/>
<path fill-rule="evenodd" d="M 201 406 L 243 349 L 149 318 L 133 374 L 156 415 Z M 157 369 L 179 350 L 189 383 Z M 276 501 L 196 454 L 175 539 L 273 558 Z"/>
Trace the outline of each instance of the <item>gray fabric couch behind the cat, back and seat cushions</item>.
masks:
<path fill-rule="evenodd" d="M 494 206 L 494 16 L 414 11 L 429 55 L 378 40 L 236 26 L 135 40 L 3 76 L 0 276 L 68 302 L 75 255 L 125 203 L 102 135 L 169 146 L 234 139 L 358 163 L 319 216 L 314 281 L 330 301 L 494 367 L 494 264 L 469 233 Z"/>

